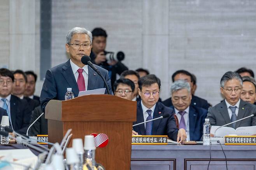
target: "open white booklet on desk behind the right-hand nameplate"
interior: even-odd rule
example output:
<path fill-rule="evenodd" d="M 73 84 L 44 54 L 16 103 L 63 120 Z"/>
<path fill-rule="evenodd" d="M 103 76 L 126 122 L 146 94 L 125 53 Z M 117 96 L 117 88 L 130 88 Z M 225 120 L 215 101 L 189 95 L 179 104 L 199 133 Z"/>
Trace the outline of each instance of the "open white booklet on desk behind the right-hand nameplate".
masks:
<path fill-rule="evenodd" d="M 214 134 L 218 127 L 220 126 L 212 126 L 210 133 Z M 215 132 L 215 136 L 217 137 L 224 137 L 227 135 L 251 136 L 253 134 L 256 134 L 256 126 L 238 127 L 237 129 L 231 127 L 221 127 Z"/>

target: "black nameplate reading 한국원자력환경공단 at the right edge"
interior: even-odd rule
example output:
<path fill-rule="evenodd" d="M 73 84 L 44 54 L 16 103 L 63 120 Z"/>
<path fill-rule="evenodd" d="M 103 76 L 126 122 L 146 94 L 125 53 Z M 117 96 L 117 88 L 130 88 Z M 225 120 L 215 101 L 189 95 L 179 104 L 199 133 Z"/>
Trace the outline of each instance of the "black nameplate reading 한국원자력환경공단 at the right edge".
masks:
<path fill-rule="evenodd" d="M 256 136 L 225 136 L 225 145 L 256 145 Z"/>

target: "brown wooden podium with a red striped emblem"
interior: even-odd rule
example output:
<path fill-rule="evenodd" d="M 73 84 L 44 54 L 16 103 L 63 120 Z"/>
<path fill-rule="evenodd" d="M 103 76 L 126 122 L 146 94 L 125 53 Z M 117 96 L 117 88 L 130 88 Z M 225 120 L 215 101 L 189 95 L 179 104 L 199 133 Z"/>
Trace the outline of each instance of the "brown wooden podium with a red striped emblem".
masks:
<path fill-rule="evenodd" d="M 96 162 L 106 170 L 129 170 L 136 109 L 135 101 L 105 94 L 84 95 L 68 101 L 51 100 L 45 110 L 49 142 L 61 142 L 69 128 L 72 128 L 72 139 L 83 141 L 84 135 L 106 134 L 109 143 L 96 148 Z M 68 147 L 72 147 L 72 141 Z"/>

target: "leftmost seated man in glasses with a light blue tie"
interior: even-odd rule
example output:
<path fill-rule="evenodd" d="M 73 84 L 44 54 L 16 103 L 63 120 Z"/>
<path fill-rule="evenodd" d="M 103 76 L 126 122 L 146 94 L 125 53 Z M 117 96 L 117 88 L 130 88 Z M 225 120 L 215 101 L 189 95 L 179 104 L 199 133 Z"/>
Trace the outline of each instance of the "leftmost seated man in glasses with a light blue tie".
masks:
<path fill-rule="evenodd" d="M 15 95 L 11 95 L 13 73 L 5 68 L 0 69 L 0 107 L 7 111 L 10 126 L 19 133 L 26 134 L 31 111 L 28 102 L 21 100 Z"/>

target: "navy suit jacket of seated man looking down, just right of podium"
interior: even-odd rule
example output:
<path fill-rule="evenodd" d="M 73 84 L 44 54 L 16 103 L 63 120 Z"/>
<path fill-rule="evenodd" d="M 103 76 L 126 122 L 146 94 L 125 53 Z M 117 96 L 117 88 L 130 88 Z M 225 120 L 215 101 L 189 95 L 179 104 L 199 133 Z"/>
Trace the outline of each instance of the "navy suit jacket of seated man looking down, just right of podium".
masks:
<path fill-rule="evenodd" d="M 174 110 L 167 108 L 162 103 L 157 102 L 156 108 L 154 110 L 153 119 L 163 116 L 163 114 L 170 114 L 168 118 L 158 119 L 153 121 L 152 135 L 168 135 L 173 141 L 177 140 L 178 129 L 176 127 Z M 137 121 L 133 122 L 133 125 L 141 123 L 144 121 L 141 101 L 137 102 Z M 135 132 L 138 132 L 139 135 L 145 135 L 145 125 L 141 124 L 133 127 Z"/>

